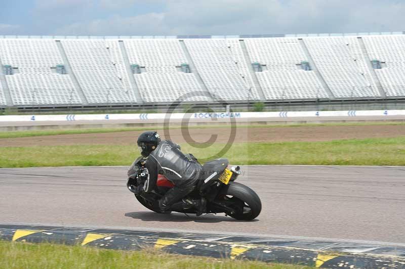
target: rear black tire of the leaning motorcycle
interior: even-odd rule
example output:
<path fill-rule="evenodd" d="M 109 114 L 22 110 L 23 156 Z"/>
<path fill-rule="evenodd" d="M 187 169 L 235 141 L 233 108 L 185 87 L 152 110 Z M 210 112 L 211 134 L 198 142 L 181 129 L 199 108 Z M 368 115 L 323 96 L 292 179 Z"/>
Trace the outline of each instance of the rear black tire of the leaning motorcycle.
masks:
<path fill-rule="evenodd" d="M 242 210 L 235 210 L 233 214 L 228 214 L 235 219 L 252 220 L 262 211 L 262 202 L 259 196 L 248 186 L 232 182 L 229 184 L 228 188 L 224 190 L 223 194 L 225 194 L 226 197 L 231 196 L 232 198 L 230 199 L 234 199 L 235 204 L 242 204 Z M 245 211 L 245 208 L 250 208 L 250 210 Z"/>

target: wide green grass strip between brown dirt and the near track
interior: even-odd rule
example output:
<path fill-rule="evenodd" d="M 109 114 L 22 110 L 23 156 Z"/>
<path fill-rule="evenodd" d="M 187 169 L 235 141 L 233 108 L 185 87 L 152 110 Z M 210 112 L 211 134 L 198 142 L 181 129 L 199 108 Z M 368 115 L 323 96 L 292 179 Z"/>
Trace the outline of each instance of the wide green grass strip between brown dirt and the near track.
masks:
<path fill-rule="evenodd" d="M 224 147 L 182 145 L 197 158 L 212 159 Z M 135 145 L 75 145 L 0 148 L 0 167 L 130 165 Z M 405 137 L 329 142 L 234 143 L 223 155 L 235 164 L 405 165 Z"/>

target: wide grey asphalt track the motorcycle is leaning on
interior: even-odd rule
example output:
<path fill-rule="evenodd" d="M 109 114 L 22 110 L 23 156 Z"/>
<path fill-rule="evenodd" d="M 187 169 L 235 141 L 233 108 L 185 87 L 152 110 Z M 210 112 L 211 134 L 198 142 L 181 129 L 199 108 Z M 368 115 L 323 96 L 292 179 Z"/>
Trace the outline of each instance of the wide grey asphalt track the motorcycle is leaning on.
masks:
<path fill-rule="evenodd" d="M 245 166 L 256 221 L 161 215 L 125 187 L 127 167 L 0 169 L 0 223 L 126 227 L 405 243 L 405 167 Z"/>

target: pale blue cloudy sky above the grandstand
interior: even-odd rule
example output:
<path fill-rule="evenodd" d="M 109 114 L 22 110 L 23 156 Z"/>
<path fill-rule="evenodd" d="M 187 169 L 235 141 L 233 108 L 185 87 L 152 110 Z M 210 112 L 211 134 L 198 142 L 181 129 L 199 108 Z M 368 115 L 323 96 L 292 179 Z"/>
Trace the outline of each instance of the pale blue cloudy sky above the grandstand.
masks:
<path fill-rule="evenodd" d="M 0 35 L 405 31 L 405 0 L 3 0 Z"/>

